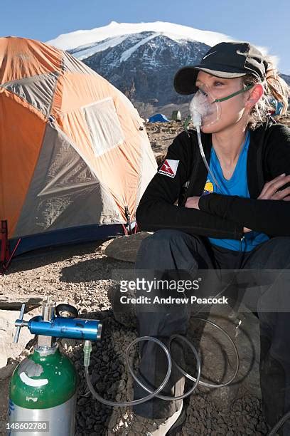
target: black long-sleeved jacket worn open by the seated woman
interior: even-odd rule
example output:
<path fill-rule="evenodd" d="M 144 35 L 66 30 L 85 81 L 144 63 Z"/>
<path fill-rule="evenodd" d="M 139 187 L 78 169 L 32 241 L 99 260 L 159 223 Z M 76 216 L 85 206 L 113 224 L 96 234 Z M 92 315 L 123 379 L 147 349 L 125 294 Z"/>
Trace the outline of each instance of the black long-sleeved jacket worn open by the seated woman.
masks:
<path fill-rule="evenodd" d="M 201 135 L 209 162 L 211 135 Z M 257 199 L 265 182 L 283 172 L 290 173 L 289 128 L 268 122 L 251 130 L 247 155 L 250 198 L 213 193 L 200 197 L 200 210 L 183 206 L 187 197 L 203 193 L 208 175 L 195 130 L 180 133 L 168 147 L 166 159 L 179 160 L 176 175 L 168 177 L 157 172 L 149 183 L 136 209 L 136 221 L 142 230 L 178 229 L 205 237 L 241 239 L 243 227 L 248 227 L 269 237 L 290 236 L 290 202 Z M 188 181 L 184 201 L 176 206 Z"/>

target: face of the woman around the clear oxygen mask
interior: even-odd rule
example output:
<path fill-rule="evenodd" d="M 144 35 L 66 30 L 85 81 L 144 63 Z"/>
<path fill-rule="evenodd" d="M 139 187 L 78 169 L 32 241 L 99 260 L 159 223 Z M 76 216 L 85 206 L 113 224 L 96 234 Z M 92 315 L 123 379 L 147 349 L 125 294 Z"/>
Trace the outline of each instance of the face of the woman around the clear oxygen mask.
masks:
<path fill-rule="evenodd" d="M 224 98 L 242 89 L 242 79 L 225 79 L 211 76 L 204 71 L 199 71 L 195 82 L 198 88 L 206 88 L 213 98 Z M 201 126 L 203 133 L 218 133 L 232 125 L 242 122 L 247 118 L 245 101 L 249 97 L 249 91 L 235 95 L 229 100 L 218 103 L 220 105 L 220 119 L 208 126 Z M 215 103 L 213 103 L 215 104 Z"/>

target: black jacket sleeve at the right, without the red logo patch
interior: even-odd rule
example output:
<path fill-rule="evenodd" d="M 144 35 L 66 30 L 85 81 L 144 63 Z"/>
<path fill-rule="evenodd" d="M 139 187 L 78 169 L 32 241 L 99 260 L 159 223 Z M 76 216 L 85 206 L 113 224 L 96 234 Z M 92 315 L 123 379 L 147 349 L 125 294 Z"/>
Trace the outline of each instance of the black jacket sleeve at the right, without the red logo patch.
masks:
<path fill-rule="evenodd" d="M 270 180 L 283 172 L 290 173 L 290 130 L 274 125 L 266 147 L 266 165 Z M 288 186 L 285 185 L 284 187 Z M 283 187 L 279 188 L 280 190 Z M 200 197 L 200 210 L 216 217 L 232 219 L 256 232 L 272 236 L 290 236 L 290 202 L 252 199 L 223 194 Z"/>

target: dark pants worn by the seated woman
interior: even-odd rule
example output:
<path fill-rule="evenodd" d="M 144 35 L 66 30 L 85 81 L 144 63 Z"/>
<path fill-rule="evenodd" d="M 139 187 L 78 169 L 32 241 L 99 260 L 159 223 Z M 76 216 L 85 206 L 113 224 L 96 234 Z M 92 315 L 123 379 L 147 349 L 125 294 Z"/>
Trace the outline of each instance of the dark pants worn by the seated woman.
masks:
<path fill-rule="evenodd" d="M 233 269 L 256 271 L 253 279 L 256 283 L 252 286 L 254 291 L 251 292 L 245 286 L 244 291 L 238 291 L 235 299 L 242 300 L 259 317 L 260 383 L 264 414 L 270 426 L 274 425 L 284 412 L 290 410 L 290 286 L 286 286 L 285 281 L 279 282 L 278 271 L 276 274 L 278 279 L 275 279 L 274 283 L 267 284 L 266 280 L 266 284 L 263 284 L 264 278 L 261 278 L 261 285 L 257 278 L 257 271 L 281 271 L 289 268 L 290 237 L 274 237 L 254 250 L 244 253 L 211 245 L 207 238 L 191 236 L 177 230 L 159 230 L 144 239 L 135 264 L 136 270 L 147 271 L 147 279 L 170 278 L 174 275 L 173 271 L 176 271 L 176 280 L 193 279 L 198 271 L 211 270 L 213 274 L 217 274 L 218 281 L 215 281 L 213 292 L 208 292 L 213 284 L 213 277 L 205 278 L 203 290 L 208 295 L 218 294 L 218 289 L 225 286 L 227 279 L 223 278 L 221 271 Z M 164 271 L 171 272 L 166 276 Z M 237 290 L 237 287 L 235 289 Z M 154 292 L 156 294 L 156 290 Z M 166 291 L 163 290 L 161 293 L 163 296 L 164 292 Z M 194 292 L 198 296 L 198 291 Z M 137 306 L 139 336 L 154 336 L 166 345 L 168 338 L 175 333 L 186 336 L 190 309 L 192 312 L 192 307 L 186 305 L 166 306 L 166 308 L 159 305 L 154 311 L 147 311 L 144 306 Z M 171 351 L 175 360 L 183 365 L 182 346 L 176 342 Z M 156 388 L 163 380 L 166 368 L 163 351 L 154 343 L 144 342 L 141 346 L 140 378 L 147 385 Z M 162 393 L 181 395 L 184 384 L 184 377 L 173 366 L 171 378 Z M 135 384 L 134 398 L 145 395 L 148 393 Z M 154 399 L 136 406 L 134 411 L 142 416 L 161 418 L 173 415 L 180 406 L 181 400 Z M 290 435 L 290 422 L 284 425 L 283 435 Z"/>

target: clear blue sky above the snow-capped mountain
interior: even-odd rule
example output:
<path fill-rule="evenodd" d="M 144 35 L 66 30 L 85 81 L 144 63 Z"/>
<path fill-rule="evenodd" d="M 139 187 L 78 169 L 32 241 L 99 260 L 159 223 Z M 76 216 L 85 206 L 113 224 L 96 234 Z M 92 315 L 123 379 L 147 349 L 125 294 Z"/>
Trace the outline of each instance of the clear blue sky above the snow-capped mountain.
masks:
<path fill-rule="evenodd" d="M 10 0 L 1 5 L 1 36 L 48 41 L 111 21 L 171 21 L 226 33 L 269 48 L 290 75 L 289 0 Z"/>

